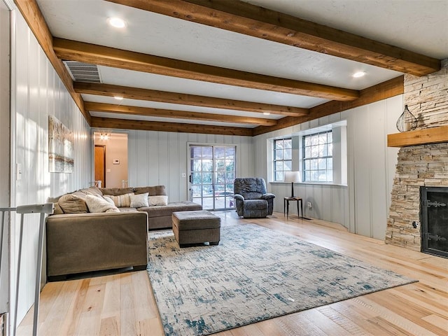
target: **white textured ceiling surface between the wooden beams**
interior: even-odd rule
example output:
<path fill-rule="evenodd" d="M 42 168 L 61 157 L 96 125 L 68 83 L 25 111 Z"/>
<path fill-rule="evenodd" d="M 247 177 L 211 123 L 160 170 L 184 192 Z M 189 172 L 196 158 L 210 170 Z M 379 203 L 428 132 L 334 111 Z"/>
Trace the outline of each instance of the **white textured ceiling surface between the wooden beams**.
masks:
<path fill-rule="evenodd" d="M 246 2 L 437 59 L 448 57 L 448 0 L 246 0 Z M 108 1 L 37 0 L 37 3 L 51 34 L 74 41 L 353 90 L 362 90 L 402 74 Z M 116 29 L 108 25 L 107 18 L 115 16 L 123 18 L 127 22 L 125 29 Z M 365 71 L 366 76 L 363 78 L 351 77 L 356 71 Z M 206 83 L 109 66 L 99 66 L 99 72 L 102 83 L 106 84 L 246 102 L 308 109 L 328 101 L 316 97 Z M 134 99 L 123 99 L 118 103 L 113 97 L 100 97 L 91 94 L 83 94 L 83 99 L 85 102 L 179 111 L 253 116 L 255 118 L 283 118 L 279 115 L 263 116 L 261 113 L 144 102 Z M 92 113 L 92 116 L 133 118 L 100 112 Z M 193 123 L 192 120 L 146 116 L 134 119 Z M 229 123 L 197 120 L 194 123 L 229 125 Z M 230 125 L 235 127 L 256 126 Z"/>

